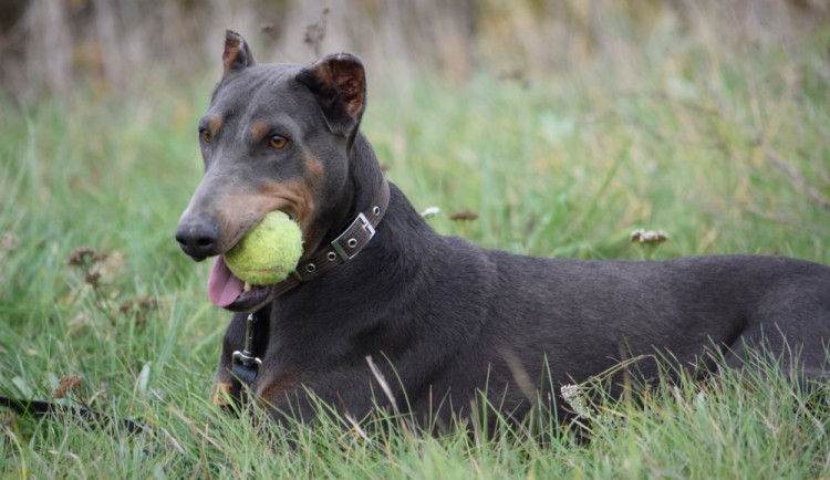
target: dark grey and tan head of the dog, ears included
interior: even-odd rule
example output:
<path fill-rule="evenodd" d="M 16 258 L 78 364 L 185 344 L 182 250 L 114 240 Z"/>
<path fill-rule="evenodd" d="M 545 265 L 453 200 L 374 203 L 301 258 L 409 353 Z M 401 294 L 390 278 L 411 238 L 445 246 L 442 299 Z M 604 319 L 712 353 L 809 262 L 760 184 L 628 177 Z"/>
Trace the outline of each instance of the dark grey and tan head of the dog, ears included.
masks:
<path fill-rule="evenodd" d="M 282 210 L 299 223 L 308 258 L 342 222 L 353 188 L 349 155 L 366 104 L 363 64 L 345 53 L 311 66 L 257 64 L 232 31 L 222 64 L 198 125 L 205 176 L 176 240 L 196 261 L 221 255 L 266 213 Z M 231 301 L 230 292 L 214 288 L 211 300 L 229 310 L 247 311 L 269 296 L 255 291 Z"/>

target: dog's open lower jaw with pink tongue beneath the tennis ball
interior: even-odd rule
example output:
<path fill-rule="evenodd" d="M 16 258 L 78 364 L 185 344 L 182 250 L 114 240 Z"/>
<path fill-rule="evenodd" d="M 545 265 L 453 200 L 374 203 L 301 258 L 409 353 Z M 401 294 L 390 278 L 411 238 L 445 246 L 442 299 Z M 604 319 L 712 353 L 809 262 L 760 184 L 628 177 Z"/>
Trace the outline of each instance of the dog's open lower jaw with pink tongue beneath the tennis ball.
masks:
<path fill-rule="evenodd" d="M 214 262 L 208 278 L 208 298 L 222 309 L 231 312 L 252 312 L 268 302 L 273 285 L 251 285 L 231 273 L 219 255 Z"/>

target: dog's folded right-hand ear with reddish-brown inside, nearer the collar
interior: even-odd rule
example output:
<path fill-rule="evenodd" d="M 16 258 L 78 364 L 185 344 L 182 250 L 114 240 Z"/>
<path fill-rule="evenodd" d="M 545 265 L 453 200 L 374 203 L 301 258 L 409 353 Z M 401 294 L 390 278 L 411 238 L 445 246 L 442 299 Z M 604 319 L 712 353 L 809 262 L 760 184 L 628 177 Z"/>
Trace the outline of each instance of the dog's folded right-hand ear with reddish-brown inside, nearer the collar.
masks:
<path fill-rule="evenodd" d="M 366 108 L 366 74 L 361 60 L 349 53 L 329 55 L 300 71 L 297 81 L 314 94 L 329 129 L 347 136 L 351 145 Z"/>

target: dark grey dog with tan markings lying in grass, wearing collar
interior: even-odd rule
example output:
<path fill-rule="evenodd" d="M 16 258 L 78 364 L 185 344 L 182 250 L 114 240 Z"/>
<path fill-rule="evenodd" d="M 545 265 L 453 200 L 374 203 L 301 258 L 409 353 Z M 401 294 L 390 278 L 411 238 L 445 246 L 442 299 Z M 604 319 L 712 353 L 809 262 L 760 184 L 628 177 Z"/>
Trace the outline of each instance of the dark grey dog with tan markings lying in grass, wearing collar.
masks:
<path fill-rule="evenodd" d="M 761 255 L 540 259 L 439 236 L 360 131 L 356 56 L 258 64 L 227 31 L 222 64 L 199 122 L 205 175 L 176 232 L 194 260 L 218 255 L 209 296 L 236 312 L 216 404 L 241 385 L 278 421 L 314 418 L 315 399 L 354 418 L 381 407 L 442 425 L 483 400 L 497 407 L 490 420 L 544 406 L 564 417 L 561 386 L 626 358 L 694 375 L 745 368 L 756 348 L 790 375 L 826 377 L 830 268 Z M 279 284 L 246 285 L 221 254 L 272 210 L 300 226 L 300 263 Z M 636 369 L 660 375 L 656 362 Z"/>

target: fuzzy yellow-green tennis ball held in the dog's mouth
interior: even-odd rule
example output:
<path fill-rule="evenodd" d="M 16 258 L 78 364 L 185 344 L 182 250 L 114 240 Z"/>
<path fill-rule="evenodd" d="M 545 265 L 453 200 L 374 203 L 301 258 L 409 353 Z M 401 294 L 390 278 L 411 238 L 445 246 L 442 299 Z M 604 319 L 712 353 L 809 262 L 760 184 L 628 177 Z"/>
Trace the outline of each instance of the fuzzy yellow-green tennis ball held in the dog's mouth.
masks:
<path fill-rule="evenodd" d="M 301 254 L 300 227 L 274 210 L 225 253 L 225 263 L 240 280 L 268 285 L 284 280 L 297 268 Z"/>

